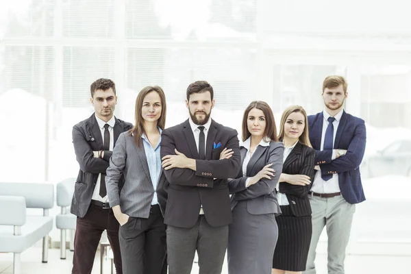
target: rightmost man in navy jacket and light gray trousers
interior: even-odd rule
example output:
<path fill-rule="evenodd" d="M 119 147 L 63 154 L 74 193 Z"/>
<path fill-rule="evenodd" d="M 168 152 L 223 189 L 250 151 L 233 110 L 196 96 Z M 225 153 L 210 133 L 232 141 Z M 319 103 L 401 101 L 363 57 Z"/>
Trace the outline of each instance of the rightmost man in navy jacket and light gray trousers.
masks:
<path fill-rule="evenodd" d="M 365 200 L 358 169 L 365 151 L 365 124 L 364 120 L 345 112 L 347 95 L 344 77 L 326 77 L 321 94 L 324 110 L 308 116 L 317 171 L 308 195 L 312 209 L 312 238 L 304 274 L 316 273 L 316 246 L 325 226 L 328 273 L 344 273 L 345 249 L 356 203 Z"/>

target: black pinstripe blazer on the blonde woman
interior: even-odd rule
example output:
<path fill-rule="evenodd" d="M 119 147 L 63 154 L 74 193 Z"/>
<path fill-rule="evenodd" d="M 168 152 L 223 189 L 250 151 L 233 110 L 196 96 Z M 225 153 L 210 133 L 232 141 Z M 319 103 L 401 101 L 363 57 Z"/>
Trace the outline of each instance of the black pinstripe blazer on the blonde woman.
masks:
<path fill-rule="evenodd" d="M 314 158 L 314 149 L 297 142 L 284 162 L 282 173 L 307 175 L 313 182 L 315 174 Z M 307 196 L 310 188 L 311 184 L 307 186 L 295 186 L 286 182 L 279 184 L 279 192 L 286 194 L 291 212 L 295 216 L 311 214 L 310 201 Z"/>

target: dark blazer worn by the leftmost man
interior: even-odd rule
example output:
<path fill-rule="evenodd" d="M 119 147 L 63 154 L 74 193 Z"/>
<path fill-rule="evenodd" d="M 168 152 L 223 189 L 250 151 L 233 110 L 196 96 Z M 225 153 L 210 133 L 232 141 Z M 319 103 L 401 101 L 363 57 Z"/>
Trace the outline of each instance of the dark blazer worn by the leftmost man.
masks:
<path fill-rule="evenodd" d="M 122 132 L 132 128 L 131 123 L 116 119 L 114 124 L 114 148 L 116 140 Z M 81 121 L 73 127 L 73 145 L 75 157 L 79 162 L 80 170 L 75 182 L 73 200 L 71 201 L 71 213 L 84 217 L 90 206 L 92 192 L 95 189 L 99 173 L 105 173 L 112 151 L 104 151 L 104 157 L 93 158 L 92 151 L 104 150 L 103 138 L 95 114 Z M 123 180 L 121 180 L 121 185 Z"/>

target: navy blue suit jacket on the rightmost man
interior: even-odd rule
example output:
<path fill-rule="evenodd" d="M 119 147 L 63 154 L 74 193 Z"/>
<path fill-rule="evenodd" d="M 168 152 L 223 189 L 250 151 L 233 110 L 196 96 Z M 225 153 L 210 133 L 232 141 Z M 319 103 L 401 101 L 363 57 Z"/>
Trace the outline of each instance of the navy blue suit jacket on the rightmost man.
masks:
<path fill-rule="evenodd" d="M 334 149 L 347 149 L 347 154 L 334 160 L 331 160 L 332 149 L 320 150 L 323 121 L 323 112 L 308 116 L 310 142 L 315 149 L 314 162 L 320 166 L 322 174 L 338 173 L 341 194 L 347 202 L 361 203 L 365 200 L 359 169 L 366 142 L 364 120 L 343 112 L 334 140 Z"/>

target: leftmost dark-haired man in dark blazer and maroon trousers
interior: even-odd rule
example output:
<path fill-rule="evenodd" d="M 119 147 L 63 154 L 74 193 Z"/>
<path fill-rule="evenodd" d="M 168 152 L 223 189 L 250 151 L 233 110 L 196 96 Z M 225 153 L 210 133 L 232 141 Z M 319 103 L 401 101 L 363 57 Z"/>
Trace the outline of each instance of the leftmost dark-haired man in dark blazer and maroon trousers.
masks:
<path fill-rule="evenodd" d="M 119 222 L 108 203 L 105 170 L 117 138 L 131 129 L 132 124 L 114 116 L 117 96 L 112 80 L 98 79 L 90 90 L 95 113 L 73 127 L 73 145 L 80 170 L 71 203 L 71 213 L 77 216 L 72 273 L 91 273 L 101 234 L 107 230 L 116 273 L 121 274 Z M 120 190 L 122 184 L 124 178 Z"/>

